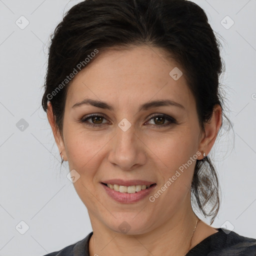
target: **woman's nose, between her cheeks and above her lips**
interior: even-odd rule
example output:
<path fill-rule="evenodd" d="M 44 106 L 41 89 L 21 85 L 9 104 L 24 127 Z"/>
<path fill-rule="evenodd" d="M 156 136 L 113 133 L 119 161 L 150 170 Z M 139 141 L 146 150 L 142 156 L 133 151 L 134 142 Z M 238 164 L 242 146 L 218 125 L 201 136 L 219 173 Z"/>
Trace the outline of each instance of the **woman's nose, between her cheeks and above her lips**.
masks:
<path fill-rule="evenodd" d="M 131 127 L 123 131 L 116 128 L 116 134 L 110 144 L 108 161 L 123 170 L 133 170 L 146 161 L 145 145 Z"/>

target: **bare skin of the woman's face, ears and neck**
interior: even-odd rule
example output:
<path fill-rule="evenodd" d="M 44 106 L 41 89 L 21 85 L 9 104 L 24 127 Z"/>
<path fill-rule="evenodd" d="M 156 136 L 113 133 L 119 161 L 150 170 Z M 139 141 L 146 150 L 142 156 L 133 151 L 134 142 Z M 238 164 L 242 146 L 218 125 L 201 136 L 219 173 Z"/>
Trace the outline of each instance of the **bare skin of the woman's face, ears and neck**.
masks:
<path fill-rule="evenodd" d="M 99 52 L 68 88 L 62 135 L 48 105 L 47 117 L 59 152 L 68 160 L 69 169 L 80 175 L 73 185 L 91 221 L 90 255 L 184 255 L 217 232 L 199 221 L 193 233 L 199 220 L 190 202 L 195 160 L 154 202 L 147 196 L 132 204 L 119 203 L 100 184 L 110 178 L 150 180 L 157 184 L 153 195 L 189 157 L 199 151 L 197 159 L 202 159 L 202 152 L 207 155 L 212 148 L 221 125 L 221 107 L 215 106 L 201 131 L 184 75 L 178 80 L 169 75 L 174 67 L 182 68 L 164 56 L 163 49 L 148 45 Z M 103 100 L 114 110 L 89 104 L 72 108 L 84 98 Z M 184 109 L 158 106 L 138 111 L 142 103 L 156 99 L 173 100 Z M 101 126 L 79 122 L 89 114 L 104 114 L 94 120 Z M 177 124 L 160 127 L 169 121 L 157 122 L 152 114 L 169 115 Z M 123 118 L 131 123 L 126 131 L 118 127 Z M 87 123 L 93 123 L 93 118 Z M 130 226 L 127 233 L 118 228 L 123 221 Z"/>

